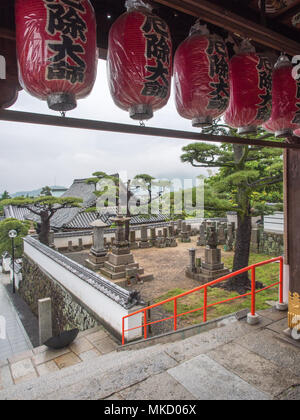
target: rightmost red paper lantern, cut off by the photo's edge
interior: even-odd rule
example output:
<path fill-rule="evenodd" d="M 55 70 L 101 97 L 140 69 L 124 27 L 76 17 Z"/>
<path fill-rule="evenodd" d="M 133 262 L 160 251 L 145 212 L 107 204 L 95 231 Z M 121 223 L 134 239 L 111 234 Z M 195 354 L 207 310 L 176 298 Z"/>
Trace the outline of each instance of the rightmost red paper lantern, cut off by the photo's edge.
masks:
<path fill-rule="evenodd" d="M 276 137 L 285 137 L 300 124 L 300 83 L 292 75 L 293 66 L 287 56 L 279 57 L 273 71 L 271 118 L 263 128 Z"/>

